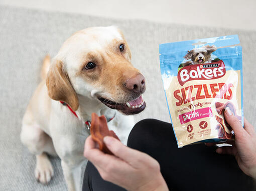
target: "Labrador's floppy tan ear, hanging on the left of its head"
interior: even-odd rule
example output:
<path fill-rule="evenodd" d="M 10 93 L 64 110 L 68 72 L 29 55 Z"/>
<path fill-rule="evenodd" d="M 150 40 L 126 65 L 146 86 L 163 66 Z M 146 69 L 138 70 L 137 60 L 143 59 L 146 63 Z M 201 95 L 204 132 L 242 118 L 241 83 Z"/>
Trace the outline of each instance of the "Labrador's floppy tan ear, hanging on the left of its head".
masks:
<path fill-rule="evenodd" d="M 49 96 L 54 100 L 64 101 L 73 110 L 77 110 L 79 103 L 77 94 L 72 87 L 67 73 L 63 70 L 63 63 L 59 60 L 52 63 L 46 77 Z"/>

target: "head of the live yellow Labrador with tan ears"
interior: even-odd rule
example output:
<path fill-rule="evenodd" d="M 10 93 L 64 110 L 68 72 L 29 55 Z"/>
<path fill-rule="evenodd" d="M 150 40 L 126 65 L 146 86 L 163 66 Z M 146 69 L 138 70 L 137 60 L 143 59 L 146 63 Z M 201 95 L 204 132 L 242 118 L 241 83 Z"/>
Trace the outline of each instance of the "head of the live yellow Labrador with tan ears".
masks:
<path fill-rule="evenodd" d="M 54 57 L 46 84 L 49 96 L 79 107 L 78 94 L 124 114 L 145 109 L 145 78 L 131 63 L 131 51 L 115 26 L 91 27 L 68 38 Z"/>

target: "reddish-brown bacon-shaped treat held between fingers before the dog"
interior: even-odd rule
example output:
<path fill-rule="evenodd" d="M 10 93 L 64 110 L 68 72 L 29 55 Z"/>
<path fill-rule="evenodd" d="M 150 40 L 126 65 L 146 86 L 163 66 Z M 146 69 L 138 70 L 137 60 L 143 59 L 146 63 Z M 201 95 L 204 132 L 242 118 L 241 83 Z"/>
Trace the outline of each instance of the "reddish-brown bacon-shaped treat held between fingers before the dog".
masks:
<path fill-rule="evenodd" d="M 105 136 L 113 136 L 120 140 L 118 136 L 112 130 L 108 130 L 107 121 L 104 115 L 100 117 L 96 113 L 91 114 L 91 127 L 90 132 L 92 139 L 98 143 L 99 149 L 102 152 L 113 154 L 105 145 L 103 138 Z"/>

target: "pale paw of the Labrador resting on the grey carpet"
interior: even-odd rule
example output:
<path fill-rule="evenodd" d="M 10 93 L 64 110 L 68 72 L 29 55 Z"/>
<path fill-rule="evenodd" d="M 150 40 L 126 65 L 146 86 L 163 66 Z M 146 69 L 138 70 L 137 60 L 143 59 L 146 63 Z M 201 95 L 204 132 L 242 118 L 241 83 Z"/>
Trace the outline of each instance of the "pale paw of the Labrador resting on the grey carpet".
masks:
<path fill-rule="evenodd" d="M 37 156 L 35 175 L 38 181 L 47 184 L 53 177 L 53 167 L 47 155 Z"/>

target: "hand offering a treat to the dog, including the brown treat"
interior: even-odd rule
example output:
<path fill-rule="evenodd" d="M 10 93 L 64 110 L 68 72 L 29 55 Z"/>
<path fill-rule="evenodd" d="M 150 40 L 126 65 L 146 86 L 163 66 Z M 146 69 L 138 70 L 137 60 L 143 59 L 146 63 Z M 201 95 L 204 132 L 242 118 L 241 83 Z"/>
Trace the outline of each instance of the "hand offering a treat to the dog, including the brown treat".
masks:
<path fill-rule="evenodd" d="M 104 180 L 127 190 L 168 190 L 158 161 L 123 145 L 115 133 L 108 130 L 104 116 L 92 115 L 91 134 L 85 141 L 84 156 Z"/>

